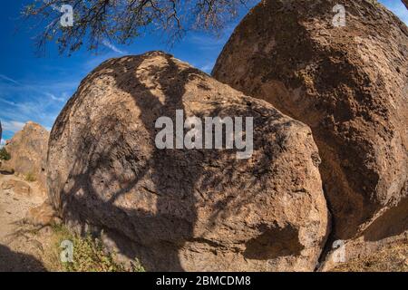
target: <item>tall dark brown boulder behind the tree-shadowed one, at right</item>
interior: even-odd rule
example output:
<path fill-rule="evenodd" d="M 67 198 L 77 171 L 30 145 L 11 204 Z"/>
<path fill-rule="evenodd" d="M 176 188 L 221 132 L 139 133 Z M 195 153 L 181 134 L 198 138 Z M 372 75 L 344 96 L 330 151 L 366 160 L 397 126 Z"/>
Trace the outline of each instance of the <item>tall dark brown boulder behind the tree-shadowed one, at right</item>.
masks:
<path fill-rule="evenodd" d="M 398 227 L 389 234 L 401 234 L 408 227 L 408 28 L 368 0 L 345 1 L 346 25 L 335 27 L 337 4 L 263 1 L 238 25 L 213 75 L 312 128 L 333 237 L 373 232 L 373 225 L 377 235 L 390 225 Z M 395 219 L 374 221 L 384 215 Z"/>

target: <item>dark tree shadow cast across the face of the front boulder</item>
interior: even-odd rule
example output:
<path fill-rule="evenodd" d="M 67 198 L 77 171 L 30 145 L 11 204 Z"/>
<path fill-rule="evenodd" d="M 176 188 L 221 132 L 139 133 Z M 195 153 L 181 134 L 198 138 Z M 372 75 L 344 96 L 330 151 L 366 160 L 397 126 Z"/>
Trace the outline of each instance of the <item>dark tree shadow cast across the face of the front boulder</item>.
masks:
<path fill-rule="evenodd" d="M 63 185 L 61 194 L 57 192 L 57 196 L 61 199 L 53 201 L 62 211 L 64 219 L 72 221 L 76 227 L 80 228 L 80 232 L 84 234 L 90 230 L 89 227 L 85 227 L 85 224 L 94 226 L 95 235 L 101 234 L 103 229 L 103 232 L 112 238 L 116 247 L 119 247 L 122 255 L 131 259 L 138 257 L 148 271 L 185 270 L 185 266 L 181 265 L 180 261 L 180 248 L 198 238 L 193 232 L 198 215 L 197 193 L 200 190 L 206 190 L 207 184 L 219 183 L 219 188 L 222 188 L 227 183 L 231 183 L 230 177 L 233 176 L 234 166 L 238 162 L 235 158 L 236 150 L 156 149 L 154 140 L 160 130 L 154 128 L 154 122 L 160 116 L 167 116 L 175 123 L 176 110 L 185 112 L 183 107 L 185 85 L 191 79 L 200 78 L 202 74 L 194 68 L 180 70 L 169 54 L 166 55 L 166 60 L 168 65 L 165 69 L 161 67 L 157 72 L 154 69 L 151 69 L 150 72 L 165 94 L 164 102 L 160 102 L 158 97 L 151 92 L 151 88 L 136 76 L 131 79 L 131 82 L 126 78 L 129 71 L 135 72 L 141 65 L 142 57 L 113 59 L 102 63 L 97 69 L 103 71 L 102 75 L 112 76 L 115 80 L 114 85 L 122 92 L 129 93 L 134 100 L 134 105 L 139 107 L 141 111 L 139 118 L 144 129 L 149 132 L 149 135 L 142 141 L 149 144 L 149 148 L 152 149 L 151 158 L 141 160 L 141 149 L 138 146 L 146 144 L 129 144 L 128 142 L 131 139 L 129 134 L 135 134 L 134 139 L 137 140 L 140 132 L 121 128 L 124 126 L 122 121 L 115 119 L 117 116 L 114 114 L 107 114 L 95 126 L 101 129 L 97 137 L 94 131 L 82 131 L 80 146 L 73 149 L 76 155 L 70 175 L 67 180 L 61 182 Z M 104 68 L 109 68 L 109 70 L 103 70 Z M 184 82 L 180 81 L 176 84 L 172 79 L 173 76 L 178 76 L 179 80 Z M 92 82 L 92 79 L 97 77 L 99 77 L 98 73 L 92 73 L 83 80 L 83 83 Z M 82 102 L 81 95 L 77 92 L 55 122 L 50 140 L 59 140 L 65 126 L 69 123 L 70 115 L 74 115 L 75 110 L 81 108 L 80 102 Z M 73 103 L 75 103 L 74 106 Z M 229 110 L 240 116 L 251 116 L 255 113 L 250 104 L 248 108 L 235 108 L 234 104 L 231 104 Z M 271 115 L 270 112 L 266 116 L 261 113 L 257 112 L 259 117 L 254 118 L 254 121 L 257 122 L 254 123 L 254 127 L 266 126 L 266 120 L 278 119 L 281 116 L 279 113 L 276 116 Z M 206 116 L 218 116 L 218 109 L 206 111 L 205 114 Z M 186 113 L 184 116 L 186 117 Z M 92 121 L 89 120 L 89 123 L 91 124 Z M 259 136 L 254 137 L 255 148 L 267 148 L 267 145 L 262 142 L 267 143 L 267 140 Z M 263 177 L 264 174 L 267 174 L 262 169 L 265 164 L 270 164 L 274 159 L 267 153 L 265 152 L 262 158 L 243 170 L 243 175 L 255 176 L 257 179 L 248 184 L 239 184 L 242 190 L 257 187 L 258 192 L 262 192 L 266 184 Z M 222 164 L 224 170 L 215 170 L 215 172 L 224 171 L 226 174 L 222 177 L 214 177 L 212 171 L 205 169 L 211 168 L 214 162 L 220 160 L 220 157 L 229 155 L 232 158 Z M 148 176 L 147 179 L 151 180 L 152 184 L 146 183 L 145 176 Z M 220 180 L 215 180 L 216 178 Z M 120 189 L 112 192 L 112 188 L 116 185 Z M 81 194 L 77 194 L 78 192 Z M 131 195 L 156 197 L 155 213 L 152 214 L 151 211 L 142 208 L 125 209 L 115 205 L 118 198 L 130 193 Z M 217 208 L 214 208 L 214 216 L 211 219 L 215 220 L 219 216 L 228 218 L 228 215 L 233 215 L 234 212 L 225 210 L 225 208 L 234 208 L 238 211 L 240 208 L 245 208 L 246 204 L 252 203 L 254 198 L 249 194 L 242 197 L 237 193 L 235 196 L 228 196 L 220 200 L 218 205 L 214 205 Z M 117 226 L 120 226 L 119 231 Z M 211 227 L 208 228 L 210 229 Z M 295 239 L 294 236 L 297 233 L 290 229 L 288 231 Z M 262 240 L 267 240 L 269 237 L 275 240 L 274 235 L 284 235 L 287 234 L 287 231 L 284 233 L 277 231 L 272 234 L 265 234 Z M 211 243 L 207 244 L 213 247 Z M 256 245 L 257 242 L 253 244 Z M 297 247 L 298 245 L 293 246 L 296 253 L 299 251 Z M 289 250 L 293 248 L 291 246 Z M 252 252 L 249 251 L 248 255 L 250 256 Z M 283 255 L 283 253 L 279 252 L 277 255 Z"/>

